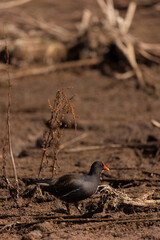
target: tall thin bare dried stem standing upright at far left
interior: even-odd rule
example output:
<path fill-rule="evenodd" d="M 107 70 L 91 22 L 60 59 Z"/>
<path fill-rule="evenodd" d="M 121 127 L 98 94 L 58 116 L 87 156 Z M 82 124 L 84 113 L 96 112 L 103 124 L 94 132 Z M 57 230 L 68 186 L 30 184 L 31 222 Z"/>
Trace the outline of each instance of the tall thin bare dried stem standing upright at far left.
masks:
<path fill-rule="evenodd" d="M 11 109 L 11 79 L 10 79 L 10 69 L 9 69 L 9 52 L 6 43 L 6 57 L 7 57 L 7 74 L 8 74 L 8 106 L 7 106 L 7 128 L 8 128 L 8 143 L 9 143 L 9 153 L 12 161 L 13 172 L 15 177 L 15 183 L 17 188 L 17 197 L 19 194 L 19 184 L 17 177 L 17 170 L 15 165 L 15 160 L 12 151 L 12 141 L 11 141 L 11 125 L 10 125 L 10 109 Z"/>

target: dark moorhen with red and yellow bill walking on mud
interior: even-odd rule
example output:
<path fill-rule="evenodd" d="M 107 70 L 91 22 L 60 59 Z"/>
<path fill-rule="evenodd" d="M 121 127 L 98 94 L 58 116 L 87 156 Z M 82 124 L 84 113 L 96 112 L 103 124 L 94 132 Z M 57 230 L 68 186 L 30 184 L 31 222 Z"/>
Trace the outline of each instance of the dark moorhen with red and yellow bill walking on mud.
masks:
<path fill-rule="evenodd" d="M 82 214 L 78 202 L 90 197 L 97 190 L 100 173 L 102 170 L 109 170 L 102 162 L 94 162 L 88 174 L 67 174 L 60 178 L 37 180 L 44 190 L 55 197 L 66 202 L 68 213 L 69 204 L 74 203 L 75 207 Z"/>

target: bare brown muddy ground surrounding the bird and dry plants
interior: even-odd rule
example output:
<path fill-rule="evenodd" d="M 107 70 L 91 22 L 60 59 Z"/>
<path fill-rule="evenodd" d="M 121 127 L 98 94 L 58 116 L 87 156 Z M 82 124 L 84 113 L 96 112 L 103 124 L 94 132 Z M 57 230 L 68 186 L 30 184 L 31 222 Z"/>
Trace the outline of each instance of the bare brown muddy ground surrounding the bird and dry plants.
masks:
<path fill-rule="evenodd" d="M 25 6 L 25 7 L 24 7 Z M 19 7 L 31 15 L 43 15 L 45 20 L 75 30 L 81 11 L 89 8 L 98 12 L 96 1 L 31 1 Z M 124 10 L 122 10 L 122 14 Z M 100 14 L 100 12 L 99 12 Z M 8 22 L 13 19 L 8 18 Z M 159 11 L 153 6 L 139 7 L 131 32 L 146 42 L 160 42 Z M 160 181 L 160 129 L 152 119 L 160 121 L 160 68 L 156 64 L 141 65 L 147 80 L 156 90 L 149 94 L 136 88 L 136 79 L 116 80 L 104 76 L 99 69 L 81 68 L 61 71 L 45 76 L 13 80 L 12 88 L 12 146 L 16 160 L 20 188 L 29 188 L 29 180 L 37 178 L 42 151 L 37 140 L 42 138 L 46 121 L 50 117 L 48 99 L 52 102 L 57 90 L 73 86 L 67 91 L 73 100 L 78 118 L 76 136 L 59 153 L 57 176 L 68 172 L 86 173 L 90 165 L 103 161 L 110 172 L 102 176 L 102 183 L 128 194 L 141 197 L 154 191 L 150 199 L 159 199 Z M 0 147 L 6 134 L 7 87 L 0 87 Z M 61 144 L 75 138 L 72 128 L 64 130 Z M 119 147 L 110 144 L 151 143 L 153 147 Z M 69 149 L 86 146 L 105 148 L 69 152 Z M 107 147 L 107 146 L 110 147 Z M 135 145 L 134 145 L 135 146 Z M 158 147 L 157 147 L 158 146 Z M 51 162 L 50 162 L 51 164 Z M 7 176 L 12 181 L 11 163 L 7 163 Z M 50 168 L 42 177 L 51 176 Z M 53 196 L 39 193 L 22 198 L 19 207 L 1 185 L 0 232 L 1 239 L 160 239 L 159 207 L 135 207 L 106 204 L 98 208 L 100 195 L 95 194 L 81 203 L 84 215 L 72 208 L 66 215 L 65 206 Z M 110 201 L 111 199 L 108 199 Z"/>

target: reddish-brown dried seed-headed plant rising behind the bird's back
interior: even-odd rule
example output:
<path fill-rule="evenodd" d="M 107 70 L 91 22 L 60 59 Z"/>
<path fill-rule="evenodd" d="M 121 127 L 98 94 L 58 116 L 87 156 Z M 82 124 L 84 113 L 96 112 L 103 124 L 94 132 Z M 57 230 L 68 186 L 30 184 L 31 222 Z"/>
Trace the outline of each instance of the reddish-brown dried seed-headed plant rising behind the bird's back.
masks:
<path fill-rule="evenodd" d="M 71 89 L 68 87 L 67 89 Z M 43 139 L 43 154 L 41 158 L 40 168 L 38 172 L 38 177 L 40 176 L 41 170 L 43 168 L 45 160 L 48 158 L 48 150 L 52 150 L 52 177 L 55 170 L 55 164 L 57 164 L 58 153 L 60 149 L 64 148 L 65 145 L 60 145 L 60 141 L 63 135 L 64 128 L 62 127 L 65 117 L 68 117 L 64 127 L 67 127 L 72 121 L 75 125 L 75 130 L 77 129 L 76 116 L 74 113 L 74 107 L 71 103 L 72 98 L 67 97 L 64 89 L 58 90 L 54 104 L 52 106 L 51 102 L 48 100 L 49 108 L 51 111 L 51 117 L 48 121 L 49 130 L 44 134 Z M 48 161 L 47 161 L 48 162 Z"/>

